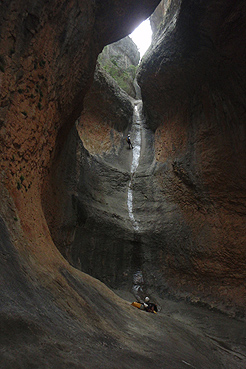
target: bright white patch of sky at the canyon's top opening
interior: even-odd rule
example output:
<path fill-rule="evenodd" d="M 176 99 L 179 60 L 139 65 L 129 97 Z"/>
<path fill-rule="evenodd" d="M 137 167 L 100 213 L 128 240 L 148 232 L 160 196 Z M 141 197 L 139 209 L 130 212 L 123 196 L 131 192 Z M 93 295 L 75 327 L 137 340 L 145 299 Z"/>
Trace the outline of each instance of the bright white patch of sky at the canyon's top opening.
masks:
<path fill-rule="evenodd" d="M 152 30 L 149 19 L 142 22 L 129 36 L 137 45 L 141 59 L 151 44 Z"/>

